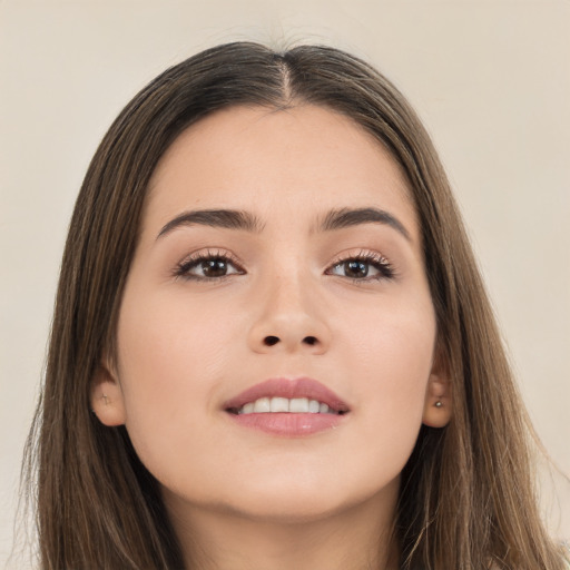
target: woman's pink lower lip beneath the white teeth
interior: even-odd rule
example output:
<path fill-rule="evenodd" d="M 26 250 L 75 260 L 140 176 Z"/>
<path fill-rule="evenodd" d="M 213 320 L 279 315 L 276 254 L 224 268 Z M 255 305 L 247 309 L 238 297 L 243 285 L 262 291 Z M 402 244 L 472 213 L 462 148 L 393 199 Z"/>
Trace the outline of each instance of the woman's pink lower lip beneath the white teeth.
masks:
<path fill-rule="evenodd" d="M 263 414 L 229 414 L 232 419 L 253 430 L 259 430 L 274 435 L 299 438 L 336 428 L 345 417 L 341 414 L 311 413 L 263 413 Z"/>

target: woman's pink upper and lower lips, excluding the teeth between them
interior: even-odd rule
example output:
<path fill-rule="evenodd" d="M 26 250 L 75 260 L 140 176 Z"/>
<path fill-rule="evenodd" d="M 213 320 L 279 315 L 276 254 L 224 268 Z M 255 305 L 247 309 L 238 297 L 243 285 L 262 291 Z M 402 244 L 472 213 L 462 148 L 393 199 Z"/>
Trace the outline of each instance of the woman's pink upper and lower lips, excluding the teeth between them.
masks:
<path fill-rule="evenodd" d="M 336 413 L 250 413 L 237 414 L 244 404 L 259 397 L 306 397 L 326 404 Z M 348 405 L 332 390 L 309 377 L 269 379 L 252 386 L 224 404 L 224 411 L 238 425 L 272 435 L 299 438 L 337 428 L 346 420 Z"/>

